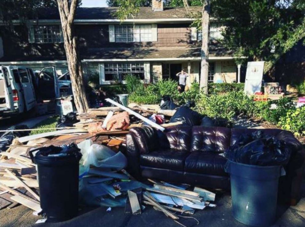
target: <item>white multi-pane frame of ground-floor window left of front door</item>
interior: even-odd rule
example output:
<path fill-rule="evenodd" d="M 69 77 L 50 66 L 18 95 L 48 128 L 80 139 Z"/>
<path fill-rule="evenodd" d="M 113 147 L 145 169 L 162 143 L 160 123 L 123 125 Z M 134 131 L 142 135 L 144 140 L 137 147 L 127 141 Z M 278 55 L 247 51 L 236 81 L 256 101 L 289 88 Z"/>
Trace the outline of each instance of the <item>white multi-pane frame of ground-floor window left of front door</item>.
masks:
<path fill-rule="evenodd" d="M 114 72 L 117 72 L 117 73 L 113 73 L 113 74 L 117 74 L 117 80 L 106 80 L 105 78 L 105 74 L 107 74 L 109 71 L 108 71 L 108 66 L 107 65 L 110 65 L 112 64 L 114 67 L 116 67 L 115 70 L 113 70 Z M 135 67 L 139 67 L 137 66 L 138 64 L 141 64 L 141 68 L 143 67 L 143 70 L 134 70 L 133 69 Z M 128 71 L 123 71 L 121 70 L 120 71 L 120 68 L 123 69 L 123 67 L 126 69 L 126 66 L 124 65 L 129 65 L 129 69 L 130 69 L 130 72 Z M 121 66 L 121 67 L 119 67 Z M 142 80 L 142 82 L 144 83 L 149 83 L 150 82 L 150 64 L 149 62 L 105 62 L 105 63 L 101 63 L 100 64 L 100 84 L 115 84 L 117 82 L 121 82 L 123 84 L 125 84 L 125 80 L 121 80 L 120 78 L 120 72 L 122 73 L 126 73 L 126 74 L 133 74 L 133 73 L 144 73 L 144 79 Z"/>

